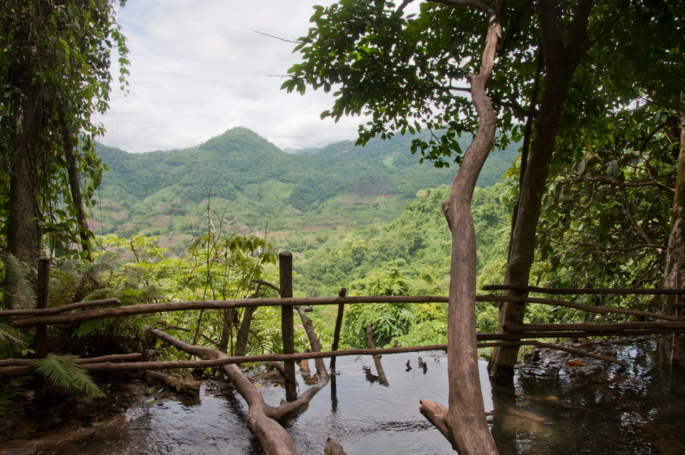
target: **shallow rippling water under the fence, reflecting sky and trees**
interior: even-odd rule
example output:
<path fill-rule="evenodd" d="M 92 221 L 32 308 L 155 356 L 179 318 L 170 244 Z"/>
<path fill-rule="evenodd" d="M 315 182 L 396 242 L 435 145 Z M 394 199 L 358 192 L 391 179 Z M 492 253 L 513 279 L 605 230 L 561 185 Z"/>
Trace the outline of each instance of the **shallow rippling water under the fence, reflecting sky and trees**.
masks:
<path fill-rule="evenodd" d="M 479 361 L 484 406 L 500 454 L 685 454 L 685 374 L 671 374 L 668 348 L 657 341 L 616 346 L 616 356 L 629 361 L 630 369 L 587 358 L 584 367 L 565 365 L 571 360 L 565 354 L 524 364 L 514 389 L 491 386 L 486 362 Z M 417 354 L 383 356 L 389 387 L 369 382 L 373 377 L 363 367 L 375 371 L 370 356 L 338 358 L 335 384 L 286 425 L 298 452 L 321 455 L 331 436 L 349 455 L 455 453 L 419 413 L 419 398 L 447 405 L 447 358 L 444 352 L 421 356 L 425 373 Z M 285 395 L 268 383 L 261 391 L 272 406 Z M 242 397 L 221 393 L 226 395 L 216 397 L 203 386 L 197 400 L 133 404 L 95 428 L 11 441 L 6 453 L 261 454 L 245 427 Z"/>

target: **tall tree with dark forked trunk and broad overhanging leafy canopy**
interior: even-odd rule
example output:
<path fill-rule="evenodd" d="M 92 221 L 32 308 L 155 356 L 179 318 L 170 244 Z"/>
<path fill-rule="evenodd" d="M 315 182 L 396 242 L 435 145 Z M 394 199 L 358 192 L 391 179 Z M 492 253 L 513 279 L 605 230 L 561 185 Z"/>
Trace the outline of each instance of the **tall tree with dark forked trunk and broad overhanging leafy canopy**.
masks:
<path fill-rule="evenodd" d="M 412 152 L 420 151 L 420 161 L 436 167 L 460 163 L 454 138 L 475 133 L 477 127 L 473 105 L 460 95 L 469 88 L 460 82 L 475 72 L 485 36 L 473 11 L 453 8 L 466 4 L 462 1 L 422 3 L 415 19 L 403 17 L 407 3 L 395 8 L 389 2 L 341 1 L 315 7 L 316 27 L 295 48 L 304 62 L 292 66 L 283 87 L 304 93 L 307 84 L 325 91 L 336 86 L 338 98 L 321 116 L 371 116 L 360 125 L 359 144 L 376 135 L 392 138 L 428 127 L 433 140 L 415 139 Z M 660 105 L 674 99 L 681 77 L 667 73 L 682 67 L 677 66 L 682 56 L 677 8 L 668 2 L 538 0 L 510 2 L 502 12 L 503 38 L 488 84 L 500 132 L 495 147 L 512 139 L 530 141 L 512 220 L 506 284 L 528 283 L 540 203 L 560 132 L 569 140 L 583 140 L 584 128 L 601 130 L 607 112 L 645 97 Z M 538 65 L 540 54 L 544 65 Z M 561 150 L 559 160 L 577 156 L 578 148 Z M 502 305 L 500 323 L 521 321 L 523 311 L 522 304 Z M 517 354 L 517 347 L 496 349 L 491 373 L 510 379 Z"/>

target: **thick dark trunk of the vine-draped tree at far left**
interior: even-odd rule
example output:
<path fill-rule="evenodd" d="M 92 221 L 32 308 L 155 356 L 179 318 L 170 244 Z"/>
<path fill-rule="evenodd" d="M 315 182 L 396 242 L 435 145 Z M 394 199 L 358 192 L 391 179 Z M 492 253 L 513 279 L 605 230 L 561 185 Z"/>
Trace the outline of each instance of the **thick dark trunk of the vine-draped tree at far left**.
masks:
<path fill-rule="evenodd" d="M 28 76 L 27 76 L 28 77 Z M 8 251 L 34 269 L 40 250 L 39 162 L 40 135 L 39 88 L 23 84 L 12 112 L 12 161 L 10 163 L 10 214 Z M 13 308 L 10 302 L 10 308 Z"/>

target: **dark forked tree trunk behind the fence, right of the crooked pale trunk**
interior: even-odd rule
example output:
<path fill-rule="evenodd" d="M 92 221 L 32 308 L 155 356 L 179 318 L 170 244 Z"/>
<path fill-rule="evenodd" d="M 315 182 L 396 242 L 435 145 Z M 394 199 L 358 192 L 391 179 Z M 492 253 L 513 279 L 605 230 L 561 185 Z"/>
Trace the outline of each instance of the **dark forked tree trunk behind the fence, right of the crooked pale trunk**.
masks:
<path fill-rule="evenodd" d="M 571 43 L 564 46 L 560 36 L 557 3 L 540 0 L 537 3 L 540 35 L 545 58 L 545 90 L 535 122 L 535 134 L 531 143 L 521 192 L 519 210 L 516 214 L 514 232 L 511 235 L 510 257 L 504 273 L 505 284 L 527 285 L 535 254 L 535 236 L 540 217 L 540 204 L 545 194 L 549 162 L 559 127 L 561 113 L 569 91 L 571 77 L 580 60 L 586 55 L 590 42 L 586 29 L 591 0 L 580 0 L 574 10 L 573 22 L 568 27 Z M 505 295 L 527 295 L 505 291 Z M 499 306 L 499 331 L 506 322 L 523 322 L 525 304 L 506 303 Z M 495 378 L 508 380 L 514 375 L 514 365 L 519 347 L 496 347 L 490 360 L 490 373 Z"/>

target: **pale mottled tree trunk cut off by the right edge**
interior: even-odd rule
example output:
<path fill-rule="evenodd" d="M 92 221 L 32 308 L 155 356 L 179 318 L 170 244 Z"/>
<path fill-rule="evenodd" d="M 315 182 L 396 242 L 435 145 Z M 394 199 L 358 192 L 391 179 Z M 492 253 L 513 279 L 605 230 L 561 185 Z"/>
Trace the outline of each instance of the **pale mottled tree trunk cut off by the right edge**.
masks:
<path fill-rule="evenodd" d="M 682 97 L 685 100 L 685 95 Z M 685 271 L 685 112 L 681 113 L 680 158 L 675 176 L 675 196 L 671 215 L 671 235 L 666 252 L 664 288 L 677 288 L 677 274 Z M 681 273 L 682 276 L 682 273 Z M 669 296 L 673 302 L 673 296 Z"/>

